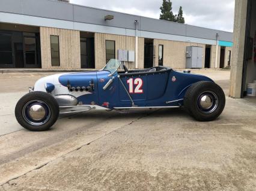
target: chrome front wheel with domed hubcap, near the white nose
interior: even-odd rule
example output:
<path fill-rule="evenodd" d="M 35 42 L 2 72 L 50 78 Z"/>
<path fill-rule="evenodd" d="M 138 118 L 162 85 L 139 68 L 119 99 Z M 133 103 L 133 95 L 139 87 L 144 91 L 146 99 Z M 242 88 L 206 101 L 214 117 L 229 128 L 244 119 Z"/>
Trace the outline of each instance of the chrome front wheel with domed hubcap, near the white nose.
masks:
<path fill-rule="evenodd" d="M 43 125 L 50 119 L 49 106 L 39 100 L 26 103 L 22 110 L 22 116 L 27 123 L 34 126 Z"/>

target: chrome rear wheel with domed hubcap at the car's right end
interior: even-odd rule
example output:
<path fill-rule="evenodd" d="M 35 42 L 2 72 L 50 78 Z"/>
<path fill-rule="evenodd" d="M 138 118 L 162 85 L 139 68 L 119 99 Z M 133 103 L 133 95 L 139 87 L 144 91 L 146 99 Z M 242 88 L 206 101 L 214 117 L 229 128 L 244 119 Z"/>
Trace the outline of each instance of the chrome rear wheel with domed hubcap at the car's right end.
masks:
<path fill-rule="evenodd" d="M 197 99 L 197 107 L 204 114 L 213 113 L 218 107 L 218 104 L 218 96 L 212 91 L 201 93 Z"/>

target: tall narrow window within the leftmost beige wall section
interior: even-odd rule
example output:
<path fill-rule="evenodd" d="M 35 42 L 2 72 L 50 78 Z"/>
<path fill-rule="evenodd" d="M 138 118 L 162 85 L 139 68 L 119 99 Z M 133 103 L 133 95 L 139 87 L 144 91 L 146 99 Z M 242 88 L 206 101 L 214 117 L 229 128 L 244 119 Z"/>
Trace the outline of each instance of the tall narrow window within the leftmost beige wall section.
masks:
<path fill-rule="evenodd" d="M 50 36 L 50 53 L 52 58 L 52 66 L 59 66 L 59 37 Z"/>

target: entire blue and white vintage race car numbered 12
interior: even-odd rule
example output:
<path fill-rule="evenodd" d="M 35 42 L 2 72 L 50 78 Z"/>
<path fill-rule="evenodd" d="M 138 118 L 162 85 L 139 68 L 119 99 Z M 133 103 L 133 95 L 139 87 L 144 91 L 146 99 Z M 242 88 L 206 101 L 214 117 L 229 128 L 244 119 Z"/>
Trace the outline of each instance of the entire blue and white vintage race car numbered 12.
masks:
<path fill-rule="evenodd" d="M 225 95 L 203 75 L 163 66 L 129 71 L 122 62 L 111 59 L 99 71 L 41 78 L 17 102 L 15 116 L 24 128 L 45 131 L 59 114 L 177 107 L 196 120 L 215 120 L 224 110 Z"/>

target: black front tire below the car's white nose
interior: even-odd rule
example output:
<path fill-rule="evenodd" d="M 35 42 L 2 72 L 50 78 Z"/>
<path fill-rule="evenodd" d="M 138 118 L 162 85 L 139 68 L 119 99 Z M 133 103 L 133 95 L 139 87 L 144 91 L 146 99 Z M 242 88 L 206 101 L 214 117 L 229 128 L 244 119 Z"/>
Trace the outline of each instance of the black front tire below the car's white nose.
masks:
<path fill-rule="evenodd" d="M 29 105 L 30 104 L 30 105 Z M 40 120 L 32 119 L 29 107 L 40 104 L 44 117 Z M 32 105 L 32 106 L 31 106 Z M 31 92 L 20 98 L 15 107 L 15 117 L 23 128 L 30 131 L 46 131 L 52 127 L 59 116 L 58 102 L 49 93 Z"/>

